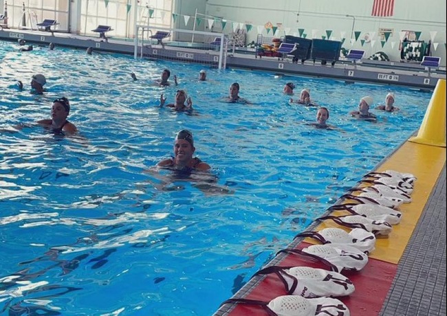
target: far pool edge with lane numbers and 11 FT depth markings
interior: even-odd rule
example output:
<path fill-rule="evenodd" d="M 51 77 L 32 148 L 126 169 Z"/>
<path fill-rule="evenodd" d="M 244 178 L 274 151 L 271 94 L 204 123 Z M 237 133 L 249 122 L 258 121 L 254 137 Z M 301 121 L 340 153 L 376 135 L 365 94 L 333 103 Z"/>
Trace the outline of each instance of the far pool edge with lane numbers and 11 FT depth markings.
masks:
<path fill-rule="evenodd" d="M 54 43 L 58 46 L 76 47 L 87 49 L 92 47 L 95 52 L 118 52 L 122 54 L 134 54 L 134 43 L 131 38 L 109 38 L 105 41 L 98 36 L 82 36 L 68 33 L 3 29 L 0 30 L 0 39 L 17 41 L 23 38 L 26 45 L 34 44 L 47 46 Z M 139 47 L 144 58 L 169 59 L 186 63 L 201 63 L 218 67 L 219 51 L 217 47 L 204 44 L 205 49 L 192 47 L 191 43 L 179 45 L 173 42 L 162 45 L 145 41 L 143 47 Z M 189 45 L 189 46 L 188 46 Z M 226 67 L 241 69 L 257 69 L 270 71 L 274 74 L 288 74 L 294 76 L 310 76 L 317 78 L 334 78 L 345 82 L 369 82 L 373 84 L 390 84 L 403 87 L 413 87 L 423 90 L 433 90 L 439 79 L 446 78 L 446 67 L 428 68 L 419 63 L 385 62 L 362 59 L 358 63 L 349 60 L 339 60 L 331 65 L 321 65 L 316 60 L 305 60 L 305 63 L 292 63 L 291 58 L 255 57 L 255 49 L 237 47 L 235 52 L 228 50 L 226 58 L 223 58 Z"/>

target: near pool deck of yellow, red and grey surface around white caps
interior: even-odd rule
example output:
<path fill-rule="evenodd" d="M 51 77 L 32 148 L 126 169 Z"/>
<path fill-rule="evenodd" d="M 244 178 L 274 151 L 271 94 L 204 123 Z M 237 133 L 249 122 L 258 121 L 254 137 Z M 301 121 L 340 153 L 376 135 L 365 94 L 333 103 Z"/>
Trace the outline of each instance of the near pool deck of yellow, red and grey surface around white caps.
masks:
<path fill-rule="evenodd" d="M 401 170 L 418 178 L 413 201 L 401 205 L 402 222 L 386 238 L 378 238 L 367 266 L 346 275 L 356 286 L 342 297 L 351 315 L 446 315 L 446 148 L 405 142 L 376 168 Z M 341 214 L 340 214 L 341 215 Z M 312 230 L 340 227 L 332 221 L 315 223 Z M 315 243 L 297 238 L 287 248 Z M 327 269 L 299 256 L 276 256 L 269 265 Z M 252 278 L 233 297 L 268 302 L 285 295 L 276 277 Z M 214 316 L 261 315 L 259 308 L 226 304 Z"/>

